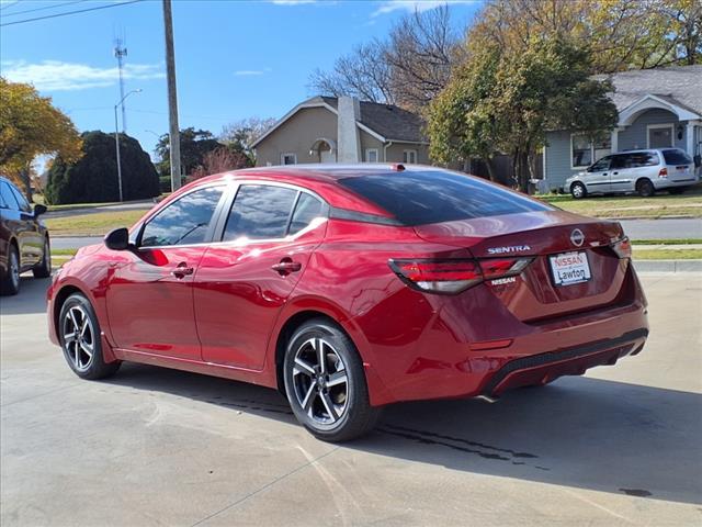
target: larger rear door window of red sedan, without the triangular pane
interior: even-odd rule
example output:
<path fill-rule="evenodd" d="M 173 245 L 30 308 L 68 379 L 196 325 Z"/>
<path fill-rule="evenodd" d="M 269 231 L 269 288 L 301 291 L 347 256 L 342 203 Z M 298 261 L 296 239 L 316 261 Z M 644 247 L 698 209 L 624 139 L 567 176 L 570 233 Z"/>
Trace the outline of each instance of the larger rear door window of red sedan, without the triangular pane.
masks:
<path fill-rule="evenodd" d="M 241 186 L 227 218 L 224 240 L 283 238 L 297 191 L 267 184 Z"/>

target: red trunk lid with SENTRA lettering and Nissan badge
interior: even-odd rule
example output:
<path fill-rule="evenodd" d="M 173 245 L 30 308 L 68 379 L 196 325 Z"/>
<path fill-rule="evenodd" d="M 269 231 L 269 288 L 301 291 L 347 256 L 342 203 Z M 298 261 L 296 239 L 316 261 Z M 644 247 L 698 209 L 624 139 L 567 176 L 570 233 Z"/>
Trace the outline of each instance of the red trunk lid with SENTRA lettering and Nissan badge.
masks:
<path fill-rule="evenodd" d="M 415 231 L 430 242 L 468 248 L 480 259 L 532 257 L 520 276 L 485 282 L 524 322 L 610 304 L 625 277 L 627 260 L 620 260 L 610 247 L 623 235 L 616 222 L 548 211 L 421 225 Z M 551 258 L 571 253 L 587 259 L 590 278 L 558 284 Z"/>

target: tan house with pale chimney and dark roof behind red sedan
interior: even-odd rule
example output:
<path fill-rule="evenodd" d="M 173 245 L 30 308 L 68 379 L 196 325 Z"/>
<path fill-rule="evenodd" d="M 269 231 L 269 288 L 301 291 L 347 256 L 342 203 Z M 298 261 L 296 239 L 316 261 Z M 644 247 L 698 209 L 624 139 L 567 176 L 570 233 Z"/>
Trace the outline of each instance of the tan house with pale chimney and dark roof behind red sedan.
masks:
<path fill-rule="evenodd" d="M 257 166 L 310 162 L 429 164 L 422 120 L 351 97 L 301 102 L 253 143 Z"/>

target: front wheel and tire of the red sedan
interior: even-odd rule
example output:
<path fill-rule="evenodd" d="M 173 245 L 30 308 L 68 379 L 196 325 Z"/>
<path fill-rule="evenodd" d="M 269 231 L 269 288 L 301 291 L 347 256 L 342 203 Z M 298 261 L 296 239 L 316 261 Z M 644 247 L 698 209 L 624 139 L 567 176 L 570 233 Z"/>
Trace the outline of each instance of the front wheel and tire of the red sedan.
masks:
<path fill-rule="evenodd" d="M 88 327 L 82 330 L 86 319 Z M 114 374 L 121 362 L 105 362 L 102 356 L 100 322 L 92 305 L 80 293 L 71 294 L 58 316 L 58 338 L 64 350 L 64 358 L 73 373 L 81 379 L 97 380 Z M 80 335 L 77 334 L 80 332 Z M 88 332 L 90 332 L 88 334 Z M 69 335 L 72 335 L 69 338 Z M 91 354 L 88 352 L 91 350 Z"/>

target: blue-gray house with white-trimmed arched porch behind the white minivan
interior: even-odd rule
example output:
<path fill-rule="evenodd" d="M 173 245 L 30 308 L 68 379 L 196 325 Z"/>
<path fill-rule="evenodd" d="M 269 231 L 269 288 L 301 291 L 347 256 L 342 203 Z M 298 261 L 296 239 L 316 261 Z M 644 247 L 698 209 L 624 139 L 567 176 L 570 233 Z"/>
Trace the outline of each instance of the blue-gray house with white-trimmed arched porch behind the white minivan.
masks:
<path fill-rule="evenodd" d="M 595 143 L 574 131 L 550 132 L 539 190 L 562 189 L 567 178 L 614 152 L 677 147 L 691 157 L 702 153 L 702 65 L 598 76 L 608 77 L 618 126 Z"/>

